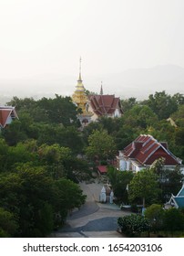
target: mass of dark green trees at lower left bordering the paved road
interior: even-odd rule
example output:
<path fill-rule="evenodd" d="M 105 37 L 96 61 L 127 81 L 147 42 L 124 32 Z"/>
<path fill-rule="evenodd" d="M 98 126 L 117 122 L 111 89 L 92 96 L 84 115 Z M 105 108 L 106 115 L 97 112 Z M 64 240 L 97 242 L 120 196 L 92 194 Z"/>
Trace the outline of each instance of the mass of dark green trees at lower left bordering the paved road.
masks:
<path fill-rule="evenodd" d="M 17 219 L 18 237 L 46 236 L 56 226 L 58 212 L 63 223 L 67 211 L 81 206 L 86 198 L 72 181 L 54 181 L 43 167 L 28 164 L 17 166 L 15 173 L 2 175 L 0 187 L 0 207 Z"/>

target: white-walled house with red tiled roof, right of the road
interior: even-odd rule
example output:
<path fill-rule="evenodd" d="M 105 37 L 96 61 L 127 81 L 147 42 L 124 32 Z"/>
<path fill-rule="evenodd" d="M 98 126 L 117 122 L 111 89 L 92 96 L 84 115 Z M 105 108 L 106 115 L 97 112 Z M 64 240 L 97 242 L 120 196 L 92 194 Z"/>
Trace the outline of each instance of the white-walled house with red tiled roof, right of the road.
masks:
<path fill-rule="evenodd" d="M 130 170 L 138 172 L 143 168 L 150 167 L 155 160 L 163 157 L 165 159 L 165 168 L 173 170 L 177 165 L 181 166 L 182 160 L 173 155 L 166 142 L 159 143 L 153 136 L 141 134 L 131 144 L 128 144 L 123 150 L 119 151 L 117 156 L 118 170 Z"/>

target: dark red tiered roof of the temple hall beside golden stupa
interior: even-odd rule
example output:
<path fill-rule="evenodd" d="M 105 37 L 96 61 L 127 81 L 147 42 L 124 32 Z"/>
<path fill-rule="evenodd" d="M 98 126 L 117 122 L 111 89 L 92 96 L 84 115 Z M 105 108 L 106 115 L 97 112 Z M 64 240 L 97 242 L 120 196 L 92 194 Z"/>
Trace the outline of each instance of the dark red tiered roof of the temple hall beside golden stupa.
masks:
<path fill-rule="evenodd" d="M 90 105 L 93 111 L 98 115 L 112 114 L 119 109 L 120 112 L 120 100 L 115 95 L 89 95 Z"/>

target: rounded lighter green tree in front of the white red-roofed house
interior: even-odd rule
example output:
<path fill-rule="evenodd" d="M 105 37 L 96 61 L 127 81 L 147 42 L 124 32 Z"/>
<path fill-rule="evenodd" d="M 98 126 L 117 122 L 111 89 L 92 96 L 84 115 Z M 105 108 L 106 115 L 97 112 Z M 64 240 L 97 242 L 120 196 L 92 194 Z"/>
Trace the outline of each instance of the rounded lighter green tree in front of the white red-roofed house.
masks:
<path fill-rule="evenodd" d="M 142 199 L 143 208 L 158 198 L 158 177 L 151 170 L 139 171 L 131 180 L 128 198 L 131 202 Z"/>

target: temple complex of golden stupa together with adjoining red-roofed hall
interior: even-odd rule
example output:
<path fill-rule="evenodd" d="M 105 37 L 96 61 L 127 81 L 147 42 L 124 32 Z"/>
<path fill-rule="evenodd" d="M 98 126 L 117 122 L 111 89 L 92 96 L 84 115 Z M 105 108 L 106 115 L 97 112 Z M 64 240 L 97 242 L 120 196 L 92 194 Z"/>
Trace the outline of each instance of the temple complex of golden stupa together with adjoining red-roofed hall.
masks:
<path fill-rule="evenodd" d="M 72 95 L 72 101 L 77 105 L 77 109 L 81 110 L 81 113 L 77 117 L 83 126 L 97 121 L 101 116 L 115 118 L 120 117 L 123 113 L 120 99 L 115 97 L 115 95 L 104 95 L 102 85 L 99 95 L 86 94 L 86 89 L 81 79 L 81 59 L 79 64 L 79 78 L 77 80 L 76 91 Z"/>

